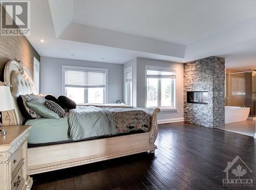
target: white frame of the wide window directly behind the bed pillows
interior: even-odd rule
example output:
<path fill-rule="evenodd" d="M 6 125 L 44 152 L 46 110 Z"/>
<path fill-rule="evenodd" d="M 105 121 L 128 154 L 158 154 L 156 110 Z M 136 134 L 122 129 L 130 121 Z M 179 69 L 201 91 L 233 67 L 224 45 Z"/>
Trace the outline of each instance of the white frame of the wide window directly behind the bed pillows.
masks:
<path fill-rule="evenodd" d="M 65 89 L 65 70 L 66 69 L 74 69 L 74 70 L 96 70 L 96 71 L 104 71 L 105 72 L 105 97 L 104 103 L 109 102 L 109 69 L 106 68 L 97 68 L 97 67 L 83 67 L 83 66 L 72 66 L 72 65 L 62 65 L 62 94 L 66 96 Z M 85 98 L 85 97 L 84 97 Z"/>

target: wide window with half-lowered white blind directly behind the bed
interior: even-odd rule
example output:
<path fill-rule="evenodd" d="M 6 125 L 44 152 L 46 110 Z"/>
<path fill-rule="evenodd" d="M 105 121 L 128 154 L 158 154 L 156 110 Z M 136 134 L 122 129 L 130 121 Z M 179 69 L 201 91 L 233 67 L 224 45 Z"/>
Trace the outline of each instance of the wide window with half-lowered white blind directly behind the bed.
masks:
<path fill-rule="evenodd" d="M 105 103 L 108 69 L 63 66 L 63 91 L 76 103 Z"/>

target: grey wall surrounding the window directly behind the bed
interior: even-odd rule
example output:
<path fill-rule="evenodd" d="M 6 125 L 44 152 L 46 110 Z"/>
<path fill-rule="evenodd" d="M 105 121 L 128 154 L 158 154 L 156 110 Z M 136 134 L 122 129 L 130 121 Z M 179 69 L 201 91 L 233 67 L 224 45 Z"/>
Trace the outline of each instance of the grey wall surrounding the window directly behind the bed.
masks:
<path fill-rule="evenodd" d="M 62 95 L 62 65 L 109 69 L 109 103 L 115 103 L 116 100 L 123 99 L 122 65 L 49 57 L 41 57 L 40 59 L 40 93 L 53 94 L 57 97 Z"/>

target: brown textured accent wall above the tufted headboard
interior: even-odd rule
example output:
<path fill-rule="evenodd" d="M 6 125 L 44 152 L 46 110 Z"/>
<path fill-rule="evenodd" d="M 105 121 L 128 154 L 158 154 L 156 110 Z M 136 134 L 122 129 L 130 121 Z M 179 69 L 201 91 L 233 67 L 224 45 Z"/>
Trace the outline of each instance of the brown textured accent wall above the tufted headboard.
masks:
<path fill-rule="evenodd" d="M 1 16 L 2 12 L 0 12 Z M 8 19 L 11 19 L 11 17 Z M 34 57 L 40 61 L 39 54 L 25 36 L 0 35 L 0 80 L 3 81 L 4 66 L 10 60 L 22 61 L 30 73 L 33 74 Z"/>

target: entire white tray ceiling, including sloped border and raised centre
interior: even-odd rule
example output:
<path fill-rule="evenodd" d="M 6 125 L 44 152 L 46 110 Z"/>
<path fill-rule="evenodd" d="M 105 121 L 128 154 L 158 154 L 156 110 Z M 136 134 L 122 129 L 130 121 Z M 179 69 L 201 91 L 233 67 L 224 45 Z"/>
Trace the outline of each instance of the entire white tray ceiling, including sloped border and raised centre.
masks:
<path fill-rule="evenodd" d="M 234 67 L 232 56 L 255 61 L 255 7 L 255 0 L 33 0 L 28 40 L 46 57 L 123 64 L 222 56 Z M 256 64 L 251 59 L 241 62 Z"/>

